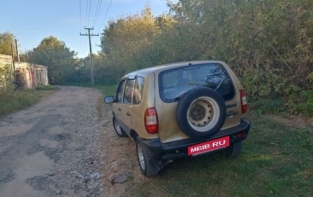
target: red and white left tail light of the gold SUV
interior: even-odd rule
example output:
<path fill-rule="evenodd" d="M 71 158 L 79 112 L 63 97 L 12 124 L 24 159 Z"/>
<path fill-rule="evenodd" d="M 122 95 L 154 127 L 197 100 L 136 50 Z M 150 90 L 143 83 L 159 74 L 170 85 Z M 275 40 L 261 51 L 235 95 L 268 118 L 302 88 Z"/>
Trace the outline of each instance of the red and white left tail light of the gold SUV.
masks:
<path fill-rule="evenodd" d="M 145 111 L 145 127 L 148 133 L 155 134 L 159 132 L 158 114 L 154 107 L 147 108 Z"/>

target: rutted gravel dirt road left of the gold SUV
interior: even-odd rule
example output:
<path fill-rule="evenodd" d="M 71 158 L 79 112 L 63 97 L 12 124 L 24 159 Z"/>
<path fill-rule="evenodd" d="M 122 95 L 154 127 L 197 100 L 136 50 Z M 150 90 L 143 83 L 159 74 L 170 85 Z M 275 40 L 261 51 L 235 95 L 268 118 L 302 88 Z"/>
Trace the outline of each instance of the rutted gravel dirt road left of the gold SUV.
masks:
<path fill-rule="evenodd" d="M 128 177 L 143 176 L 134 143 L 115 135 L 111 119 L 99 91 L 73 86 L 1 118 L 0 196 L 123 194 Z"/>

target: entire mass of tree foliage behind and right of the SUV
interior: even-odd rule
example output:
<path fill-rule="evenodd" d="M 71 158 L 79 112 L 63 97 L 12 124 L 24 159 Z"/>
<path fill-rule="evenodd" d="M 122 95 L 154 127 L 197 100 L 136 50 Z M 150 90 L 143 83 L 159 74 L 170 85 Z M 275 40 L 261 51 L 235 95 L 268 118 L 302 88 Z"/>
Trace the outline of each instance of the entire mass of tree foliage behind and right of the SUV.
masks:
<path fill-rule="evenodd" d="M 161 63 L 213 59 L 240 76 L 257 108 L 293 111 L 313 97 L 313 1 L 179 0 L 168 6 L 170 14 L 153 17 L 147 8 L 108 23 L 102 56 L 110 81 Z"/>

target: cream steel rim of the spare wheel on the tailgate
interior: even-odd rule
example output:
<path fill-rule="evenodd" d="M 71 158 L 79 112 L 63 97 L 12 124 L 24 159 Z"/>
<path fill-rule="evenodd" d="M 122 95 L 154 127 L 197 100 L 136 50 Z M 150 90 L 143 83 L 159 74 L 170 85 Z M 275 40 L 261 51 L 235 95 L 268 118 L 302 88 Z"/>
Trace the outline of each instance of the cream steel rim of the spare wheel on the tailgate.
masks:
<path fill-rule="evenodd" d="M 220 107 L 211 97 L 198 97 L 187 111 L 189 125 L 198 132 L 207 132 L 218 123 Z"/>

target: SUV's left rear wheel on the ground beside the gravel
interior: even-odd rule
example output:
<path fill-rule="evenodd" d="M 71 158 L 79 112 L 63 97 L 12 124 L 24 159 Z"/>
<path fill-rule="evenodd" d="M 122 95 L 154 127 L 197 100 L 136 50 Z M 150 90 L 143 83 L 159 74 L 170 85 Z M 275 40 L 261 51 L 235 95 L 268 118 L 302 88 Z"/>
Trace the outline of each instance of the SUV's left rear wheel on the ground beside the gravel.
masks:
<path fill-rule="evenodd" d="M 140 137 L 137 137 L 136 139 L 136 150 L 137 150 L 137 159 L 139 163 L 139 167 L 141 170 L 141 173 L 146 177 L 155 176 L 159 172 L 152 167 L 151 161 L 151 154 L 148 150 L 146 150 L 142 146 L 142 141 Z"/>

